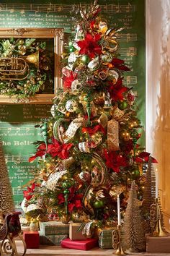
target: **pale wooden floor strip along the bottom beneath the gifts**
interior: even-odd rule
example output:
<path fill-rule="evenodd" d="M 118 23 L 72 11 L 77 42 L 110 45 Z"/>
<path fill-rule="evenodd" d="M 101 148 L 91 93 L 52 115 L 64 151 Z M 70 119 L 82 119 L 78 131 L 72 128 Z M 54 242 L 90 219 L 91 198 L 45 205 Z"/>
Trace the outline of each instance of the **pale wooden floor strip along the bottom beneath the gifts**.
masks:
<path fill-rule="evenodd" d="M 17 249 L 19 252 L 19 255 L 22 255 L 23 248 L 22 243 L 20 241 L 17 241 Z M 96 256 L 113 256 L 115 250 L 113 249 L 100 249 L 100 248 L 94 248 L 89 251 L 81 251 L 78 249 L 66 249 L 61 248 L 58 246 L 40 246 L 39 249 L 27 249 L 26 255 L 28 256 L 46 256 L 46 255 L 56 255 L 56 256 L 83 256 L 83 255 L 96 255 Z M 170 253 L 149 253 L 149 252 L 142 252 L 142 253 L 133 253 L 130 254 L 133 256 L 137 255 L 143 255 L 143 256 L 170 256 Z"/>

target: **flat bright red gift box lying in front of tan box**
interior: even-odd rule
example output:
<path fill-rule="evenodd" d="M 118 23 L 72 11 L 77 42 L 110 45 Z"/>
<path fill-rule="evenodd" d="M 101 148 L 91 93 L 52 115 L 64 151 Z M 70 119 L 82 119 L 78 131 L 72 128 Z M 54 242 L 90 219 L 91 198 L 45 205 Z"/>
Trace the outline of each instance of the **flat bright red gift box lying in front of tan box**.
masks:
<path fill-rule="evenodd" d="M 61 247 L 71 249 L 88 250 L 96 246 L 98 246 L 98 240 L 94 238 L 88 238 L 86 240 L 71 240 L 66 238 L 61 242 Z"/>

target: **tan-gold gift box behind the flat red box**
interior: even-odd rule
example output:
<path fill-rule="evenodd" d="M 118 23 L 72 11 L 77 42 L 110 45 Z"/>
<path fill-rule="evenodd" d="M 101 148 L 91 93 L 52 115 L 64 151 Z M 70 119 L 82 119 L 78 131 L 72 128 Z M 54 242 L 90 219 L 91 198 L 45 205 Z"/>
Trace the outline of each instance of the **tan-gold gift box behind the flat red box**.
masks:
<path fill-rule="evenodd" d="M 77 231 L 81 223 L 70 223 L 69 226 L 69 239 L 71 240 L 86 240 L 86 236 L 82 234 L 81 231 Z"/>

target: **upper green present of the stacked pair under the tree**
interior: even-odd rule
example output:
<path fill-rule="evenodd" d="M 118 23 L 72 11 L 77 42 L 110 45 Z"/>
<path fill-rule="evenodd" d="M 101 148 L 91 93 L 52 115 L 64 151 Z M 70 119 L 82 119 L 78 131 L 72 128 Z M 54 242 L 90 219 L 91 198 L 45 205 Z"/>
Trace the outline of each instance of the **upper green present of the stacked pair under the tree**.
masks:
<path fill-rule="evenodd" d="M 69 224 L 59 221 L 40 222 L 40 231 L 44 236 L 69 234 Z"/>

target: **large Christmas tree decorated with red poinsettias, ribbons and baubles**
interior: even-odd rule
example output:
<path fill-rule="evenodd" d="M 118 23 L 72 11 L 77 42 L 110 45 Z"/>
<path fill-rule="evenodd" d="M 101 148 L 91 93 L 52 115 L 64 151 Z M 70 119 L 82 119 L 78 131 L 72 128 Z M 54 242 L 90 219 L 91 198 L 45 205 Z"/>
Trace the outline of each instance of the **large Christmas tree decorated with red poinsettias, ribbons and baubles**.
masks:
<path fill-rule="evenodd" d="M 133 179 L 142 198 L 143 156 L 133 88 L 123 85 L 130 69 L 118 58 L 122 30 L 108 28 L 97 2 L 80 6 L 76 33 L 65 43 L 63 89 L 42 120 L 39 159 L 26 206 L 39 205 L 52 218 L 84 216 L 117 222 L 117 194 L 125 211 Z M 141 155 L 142 154 L 142 155 Z M 77 217 L 76 217 L 77 218 Z M 81 218 L 82 219 L 82 218 Z"/>

